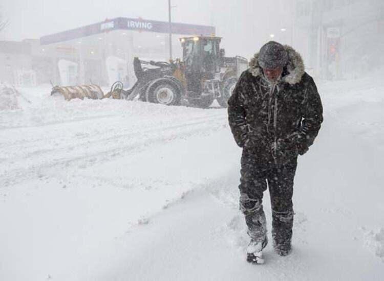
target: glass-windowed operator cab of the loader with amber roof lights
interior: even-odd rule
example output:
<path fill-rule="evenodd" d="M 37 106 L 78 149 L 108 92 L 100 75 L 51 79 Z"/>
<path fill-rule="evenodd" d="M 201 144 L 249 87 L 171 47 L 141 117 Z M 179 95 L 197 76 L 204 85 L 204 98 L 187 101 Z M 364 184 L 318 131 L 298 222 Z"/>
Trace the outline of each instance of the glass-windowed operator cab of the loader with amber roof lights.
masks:
<path fill-rule="evenodd" d="M 189 74 L 213 79 L 215 73 L 220 72 L 221 37 L 184 37 L 180 42 L 187 76 Z"/>

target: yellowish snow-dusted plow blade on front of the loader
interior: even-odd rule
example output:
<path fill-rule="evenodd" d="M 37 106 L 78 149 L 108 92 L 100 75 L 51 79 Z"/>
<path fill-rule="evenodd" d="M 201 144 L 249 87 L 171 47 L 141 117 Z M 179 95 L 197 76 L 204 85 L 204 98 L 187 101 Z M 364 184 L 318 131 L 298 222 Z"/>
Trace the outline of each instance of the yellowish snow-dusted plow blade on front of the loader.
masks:
<path fill-rule="evenodd" d="M 61 95 L 65 100 L 84 98 L 100 100 L 104 97 L 104 93 L 98 85 L 81 85 L 81 86 L 54 86 L 51 96 Z"/>

